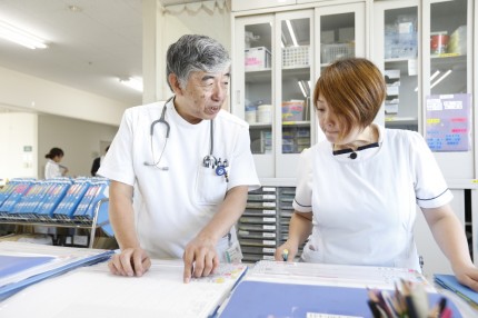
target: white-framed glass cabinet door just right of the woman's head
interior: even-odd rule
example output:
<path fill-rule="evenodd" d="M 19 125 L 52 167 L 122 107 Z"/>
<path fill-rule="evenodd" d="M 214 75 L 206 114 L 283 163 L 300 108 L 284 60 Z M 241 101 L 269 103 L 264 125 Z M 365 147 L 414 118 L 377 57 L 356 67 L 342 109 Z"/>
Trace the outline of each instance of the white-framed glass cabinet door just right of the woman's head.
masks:
<path fill-rule="evenodd" d="M 374 6 L 374 60 L 387 83 L 384 111 L 376 121 L 387 128 L 419 130 L 418 1 L 377 1 Z"/>

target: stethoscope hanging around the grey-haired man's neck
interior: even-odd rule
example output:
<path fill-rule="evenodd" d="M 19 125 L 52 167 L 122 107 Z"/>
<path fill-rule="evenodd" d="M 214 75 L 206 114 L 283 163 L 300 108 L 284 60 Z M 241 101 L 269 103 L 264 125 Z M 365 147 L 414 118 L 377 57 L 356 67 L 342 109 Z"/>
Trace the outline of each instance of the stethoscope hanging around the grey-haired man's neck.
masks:
<path fill-rule="evenodd" d="M 143 165 L 148 166 L 148 167 L 156 167 L 159 170 L 162 171 L 168 171 L 169 167 L 167 166 L 159 166 L 159 162 L 161 162 L 161 158 L 162 155 L 165 153 L 165 149 L 166 149 L 166 145 L 168 145 L 168 139 L 169 139 L 169 132 L 170 132 L 170 126 L 169 122 L 166 120 L 166 109 L 167 109 L 167 105 L 175 98 L 175 96 L 170 97 L 167 101 L 165 101 L 165 105 L 162 107 L 162 111 L 161 111 L 161 116 L 159 117 L 159 119 L 155 120 L 153 122 L 151 122 L 151 126 L 149 128 L 149 136 L 150 136 L 150 148 L 151 148 L 151 157 L 152 157 L 152 162 L 148 162 L 145 161 Z M 157 123 L 162 123 L 166 126 L 166 141 L 165 145 L 162 146 L 161 149 L 161 153 L 159 155 L 158 160 L 155 161 L 155 147 L 153 147 L 153 142 L 152 142 L 152 137 L 155 135 L 155 126 Z M 215 123 L 213 120 L 210 120 L 210 142 L 209 142 L 209 155 L 206 155 L 205 158 L 202 159 L 202 167 L 205 168 L 212 168 L 216 172 L 217 176 L 225 176 L 226 182 L 229 182 L 229 162 L 227 159 L 221 160 L 221 158 L 217 159 L 212 153 L 215 150 Z"/>

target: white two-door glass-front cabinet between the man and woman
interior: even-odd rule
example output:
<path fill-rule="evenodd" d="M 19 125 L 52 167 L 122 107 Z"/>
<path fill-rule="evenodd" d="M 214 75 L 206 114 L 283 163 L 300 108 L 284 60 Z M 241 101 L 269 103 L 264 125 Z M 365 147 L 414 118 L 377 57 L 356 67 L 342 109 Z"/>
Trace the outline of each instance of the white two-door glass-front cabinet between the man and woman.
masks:
<path fill-rule="evenodd" d="M 249 123 L 262 178 L 295 177 L 298 153 L 313 142 L 312 17 L 302 10 L 235 20 L 232 112 Z"/>

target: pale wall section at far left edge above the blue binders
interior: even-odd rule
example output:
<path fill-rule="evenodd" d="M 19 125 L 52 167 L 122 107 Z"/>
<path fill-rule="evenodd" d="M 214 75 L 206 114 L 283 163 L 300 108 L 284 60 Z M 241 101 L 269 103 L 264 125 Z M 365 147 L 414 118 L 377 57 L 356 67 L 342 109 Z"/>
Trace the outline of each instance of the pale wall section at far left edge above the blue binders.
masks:
<path fill-rule="evenodd" d="M 38 116 L 0 113 L 0 179 L 37 178 Z"/>

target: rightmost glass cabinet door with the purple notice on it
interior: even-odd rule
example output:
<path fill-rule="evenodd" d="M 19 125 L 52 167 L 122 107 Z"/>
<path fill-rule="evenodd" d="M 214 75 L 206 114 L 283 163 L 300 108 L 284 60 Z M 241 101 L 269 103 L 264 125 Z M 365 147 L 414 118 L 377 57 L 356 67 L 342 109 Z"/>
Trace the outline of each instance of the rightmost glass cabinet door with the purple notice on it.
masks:
<path fill-rule="evenodd" d="M 476 178 L 472 2 L 430 1 L 429 19 L 424 23 L 424 136 L 445 177 L 454 183 L 471 183 Z"/>

